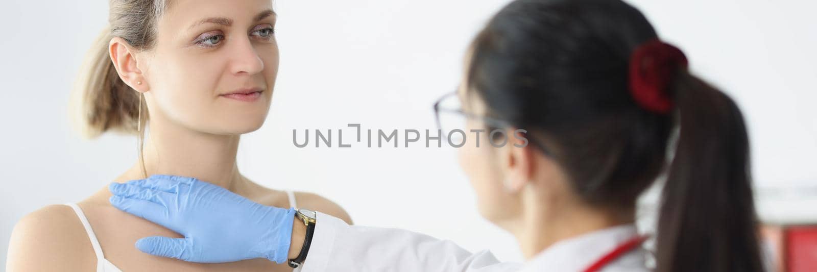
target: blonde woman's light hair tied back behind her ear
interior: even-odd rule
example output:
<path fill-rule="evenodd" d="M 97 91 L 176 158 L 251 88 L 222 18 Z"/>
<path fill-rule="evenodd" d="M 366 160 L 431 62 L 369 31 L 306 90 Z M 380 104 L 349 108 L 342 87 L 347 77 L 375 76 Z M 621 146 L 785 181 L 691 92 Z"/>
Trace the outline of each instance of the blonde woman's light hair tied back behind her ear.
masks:
<path fill-rule="evenodd" d="M 87 52 L 74 85 L 69 109 L 74 127 L 88 139 L 108 131 L 136 135 L 141 155 L 148 110 L 141 93 L 127 86 L 109 56 L 112 38 L 123 38 L 137 51 L 154 47 L 156 25 L 169 0 L 110 0 L 109 25 Z M 141 118 L 140 118 L 141 111 Z M 141 129 L 137 129 L 141 127 Z"/>

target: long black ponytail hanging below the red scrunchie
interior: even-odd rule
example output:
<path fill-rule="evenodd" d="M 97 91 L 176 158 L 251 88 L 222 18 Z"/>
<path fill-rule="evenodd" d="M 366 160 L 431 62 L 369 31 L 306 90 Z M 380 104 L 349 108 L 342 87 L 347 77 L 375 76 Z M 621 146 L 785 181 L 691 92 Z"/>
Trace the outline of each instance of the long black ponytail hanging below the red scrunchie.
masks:
<path fill-rule="evenodd" d="M 671 91 L 681 130 L 663 189 L 658 271 L 761 271 L 740 110 L 690 74 L 679 73 Z"/>

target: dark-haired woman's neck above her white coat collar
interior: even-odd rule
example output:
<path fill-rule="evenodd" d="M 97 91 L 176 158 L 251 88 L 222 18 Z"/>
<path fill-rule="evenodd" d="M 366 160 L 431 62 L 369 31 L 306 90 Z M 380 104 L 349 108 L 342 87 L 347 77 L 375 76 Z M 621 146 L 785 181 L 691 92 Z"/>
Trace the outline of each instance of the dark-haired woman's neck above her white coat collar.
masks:
<path fill-rule="evenodd" d="M 518 224 L 519 227 L 512 232 L 520 244 L 525 259 L 533 258 L 561 240 L 615 225 L 632 224 L 635 221 L 632 209 L 621 212 L 588 207 L 582 203 L 546 205 L 534 198 L 524 201 L 525 206 L 529 208 L 523 208 L 523 218 Z"/>

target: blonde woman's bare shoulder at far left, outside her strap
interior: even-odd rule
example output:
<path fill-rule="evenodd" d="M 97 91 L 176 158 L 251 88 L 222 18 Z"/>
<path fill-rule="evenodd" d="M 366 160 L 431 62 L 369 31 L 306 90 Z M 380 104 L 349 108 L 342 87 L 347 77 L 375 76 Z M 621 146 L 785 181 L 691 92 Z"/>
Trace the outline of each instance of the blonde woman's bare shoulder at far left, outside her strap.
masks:
<path fill-rule="evenodd" d="M 11 232 L 8 271 L 89 271 L 95 264 L 91 242 L 69 206 L 42 207 L 23 216 Z"/>

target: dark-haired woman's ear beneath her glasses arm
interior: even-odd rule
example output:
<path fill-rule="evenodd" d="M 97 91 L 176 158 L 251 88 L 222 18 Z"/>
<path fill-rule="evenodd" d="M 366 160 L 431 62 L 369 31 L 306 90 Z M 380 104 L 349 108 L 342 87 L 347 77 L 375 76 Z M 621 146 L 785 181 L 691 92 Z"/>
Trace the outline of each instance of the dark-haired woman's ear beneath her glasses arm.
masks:
<path fill-rule="evenodd" d="M 533 182 L 536 150 L 528 145 L 525 130 L 511 128 L 507 136 L 507 143 L 502 147 L 505 187 L 508 192 L 516 193 Z"/>

